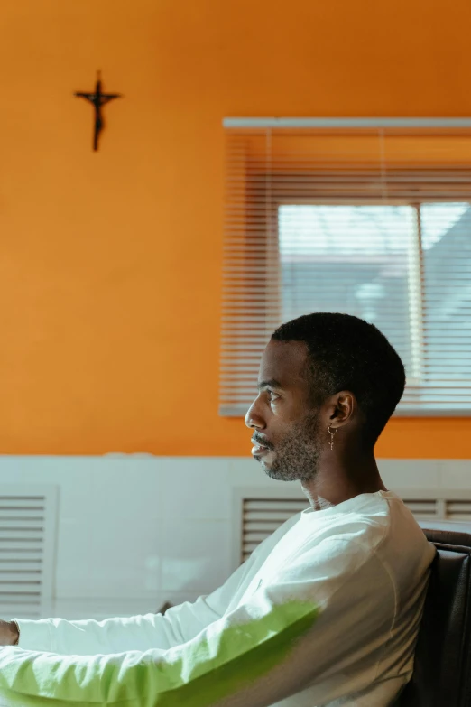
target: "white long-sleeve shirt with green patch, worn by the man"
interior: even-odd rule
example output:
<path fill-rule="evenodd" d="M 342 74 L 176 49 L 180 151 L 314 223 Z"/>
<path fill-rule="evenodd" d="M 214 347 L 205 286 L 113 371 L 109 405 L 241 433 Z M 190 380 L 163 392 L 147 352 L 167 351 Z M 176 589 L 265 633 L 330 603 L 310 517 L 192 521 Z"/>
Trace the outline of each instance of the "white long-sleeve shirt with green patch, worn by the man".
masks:
<path fill-rule="evenodd" d="M 305 510 L 164 616 L 16 619 L 0 704 L 385 707 L 411 677 L 434 553 L 392 492 Z"/>

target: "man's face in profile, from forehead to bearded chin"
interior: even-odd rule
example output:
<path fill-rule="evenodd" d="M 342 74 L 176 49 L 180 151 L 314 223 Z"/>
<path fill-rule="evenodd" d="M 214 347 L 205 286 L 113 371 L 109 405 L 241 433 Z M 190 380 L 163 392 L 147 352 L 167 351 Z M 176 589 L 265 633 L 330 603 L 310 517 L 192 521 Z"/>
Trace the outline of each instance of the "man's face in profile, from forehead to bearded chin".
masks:
<path fill-rule="evenodd" d="M 309 395 L 307 355 L 300 341 L 271 340 L 263 352 L 259 394 L 245 424 L 254 429 L 254 459 L 272 479 L 308 481 L 318 470 L 322 431 Z"/>

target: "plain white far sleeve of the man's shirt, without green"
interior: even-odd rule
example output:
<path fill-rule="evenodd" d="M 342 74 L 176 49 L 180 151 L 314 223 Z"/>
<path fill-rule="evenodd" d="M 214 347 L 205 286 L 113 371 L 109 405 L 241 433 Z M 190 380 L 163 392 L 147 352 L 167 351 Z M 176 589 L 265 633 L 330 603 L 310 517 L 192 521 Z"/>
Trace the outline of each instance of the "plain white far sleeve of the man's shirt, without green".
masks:
<path fill-rule="evenodd" d="M 167 649 L 186 643 L 219 619 L 256 561 L 255 553 L 208 596 L 186 601 L 162 614 L 128 618 L 14 619 L 20 628 L 19 646 L 27 650 L 89 656 L 129 650 Z"/>

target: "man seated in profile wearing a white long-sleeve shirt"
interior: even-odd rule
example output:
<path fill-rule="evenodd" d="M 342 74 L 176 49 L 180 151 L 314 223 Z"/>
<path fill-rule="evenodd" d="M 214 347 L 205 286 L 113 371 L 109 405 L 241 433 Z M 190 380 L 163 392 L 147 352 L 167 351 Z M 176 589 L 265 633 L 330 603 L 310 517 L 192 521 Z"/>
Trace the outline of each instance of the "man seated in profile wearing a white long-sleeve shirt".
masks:
<path fill-rule="evenodd" d="M 374 460 L 404 380 L 365 321 L 317 313 L 282 325 L 245 422 L 254 458 L 273 479 L 299 479 L 309 509 L 213 594 L 165 616 L 4 622 L 0 702 L 392 704 L 411 677 L 434 555 Z"/>

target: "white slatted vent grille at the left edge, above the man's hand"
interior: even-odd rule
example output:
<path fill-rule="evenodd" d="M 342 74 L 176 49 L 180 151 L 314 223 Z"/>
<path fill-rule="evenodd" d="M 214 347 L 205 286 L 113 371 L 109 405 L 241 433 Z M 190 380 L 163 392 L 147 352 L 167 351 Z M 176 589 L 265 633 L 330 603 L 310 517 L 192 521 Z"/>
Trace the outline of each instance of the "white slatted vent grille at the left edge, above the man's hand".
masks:
<path fill-rule="evenodd" d="M 57 489 L 0 487 L 0 616 L 49 613 Z"/>

